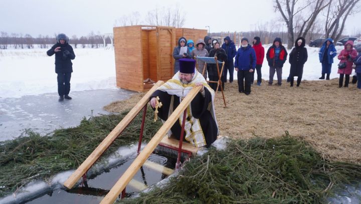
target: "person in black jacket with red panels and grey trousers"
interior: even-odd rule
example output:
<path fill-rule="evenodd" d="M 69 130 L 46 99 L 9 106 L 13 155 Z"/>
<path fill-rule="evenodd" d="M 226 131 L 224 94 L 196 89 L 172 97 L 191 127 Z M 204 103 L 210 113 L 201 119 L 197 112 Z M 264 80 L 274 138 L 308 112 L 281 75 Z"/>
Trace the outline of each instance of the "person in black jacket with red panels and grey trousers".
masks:
<path fill-rule="evenodd" d="M 275 38 L 272 46 L 267 51 L 266 58 L 270 67 L 268 85 L 272 86 L 274 74 L 277 72 L 277 85 L 281 86 L 282 67 L 287 60 L 287 51 L 282 45 L 281 38 Z"/>

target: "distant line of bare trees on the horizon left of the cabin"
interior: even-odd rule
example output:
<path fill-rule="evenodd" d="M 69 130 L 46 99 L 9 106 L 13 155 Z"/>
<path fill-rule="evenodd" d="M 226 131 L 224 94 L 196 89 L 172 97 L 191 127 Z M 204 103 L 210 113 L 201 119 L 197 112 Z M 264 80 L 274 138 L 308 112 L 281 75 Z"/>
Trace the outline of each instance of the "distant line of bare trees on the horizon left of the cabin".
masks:
<path fill-rule="evenodd" d="M 81 36 L 78 38 L 76 35 L 68 36 L 69 44 L 78 46 L 81 48 L 100 48 L 106 47 L 108 44 L 112 45 L 112 35 L 100 35 L 91 32 L 88 36 Z M 0 49 L 32 49 L 35 46 L 39 48 L 48 48 L 56 43 L 56 34 L 54 36 L 42 36 L 32 37 L 29 34 L 8 34 L 7 32 L 1 32 L 0 35 Z"/>

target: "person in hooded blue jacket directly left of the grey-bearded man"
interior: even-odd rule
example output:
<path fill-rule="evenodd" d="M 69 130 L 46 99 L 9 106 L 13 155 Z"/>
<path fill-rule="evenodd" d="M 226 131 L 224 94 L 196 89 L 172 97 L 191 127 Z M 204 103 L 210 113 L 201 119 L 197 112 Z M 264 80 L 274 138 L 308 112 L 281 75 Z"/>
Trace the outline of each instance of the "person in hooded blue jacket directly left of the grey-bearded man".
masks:
<path fill-rule="evenodd" d="M 224 66 L 224 76 L 223 81 L 224 83 L 227 82 L 227 72 L 230 72 L 230 83 L 233 82 L 233 58 L 236 56 L 237 50 L 236 46 L 233 41 L 231 41 L 231 38 L 227 36 L 224 38 L 225 43 L 222 45 L 222 49 L 226 51 L 227 54 L 227 61 L 225 62 Z"/>

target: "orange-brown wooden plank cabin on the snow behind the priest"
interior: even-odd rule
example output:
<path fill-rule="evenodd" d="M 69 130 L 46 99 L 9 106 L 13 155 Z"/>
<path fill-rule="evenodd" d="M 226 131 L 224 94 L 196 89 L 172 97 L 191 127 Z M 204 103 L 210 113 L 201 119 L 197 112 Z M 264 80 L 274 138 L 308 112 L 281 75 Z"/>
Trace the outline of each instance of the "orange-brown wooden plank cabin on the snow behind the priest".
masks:
<path fill-rule="evenodd" d="M 197 41 L 207 35 L 207 30 L 141 25 L 115 27 L 113 32 L 117 87 L 137 92 L 174 75 L 173 49 L 178 38 L 185 35 Z"/>

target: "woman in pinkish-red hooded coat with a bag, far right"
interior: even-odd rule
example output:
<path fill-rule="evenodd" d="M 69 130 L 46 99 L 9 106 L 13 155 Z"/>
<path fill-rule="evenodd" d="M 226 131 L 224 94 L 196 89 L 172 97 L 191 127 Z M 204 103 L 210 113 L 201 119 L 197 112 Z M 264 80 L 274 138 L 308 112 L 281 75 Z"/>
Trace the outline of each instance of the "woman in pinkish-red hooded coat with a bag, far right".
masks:
<path fill-rule="evenodd" d="M 355 49 L 353 49 L 353 42 L 352 41 L 347 41 L 345 46 L 344 46 L 344 49 L 340 52 L 340 54 L 337 57 L 340 60 L 340 63 L 346 63 L 345 68 L 338 69 L 338 71 L 337 71 L 337 74 L 340 75 L 339 81 L 338 81 L 339 88 L 342 87 L 342 82 L 343 82 L 343 76 L 344 75 L 346 75 L 344 87 L 348 87 L 349 75 L 352 72 L 353 60 L 356 57 L 357 57 L 357 52 L 356 52 Z"/>

